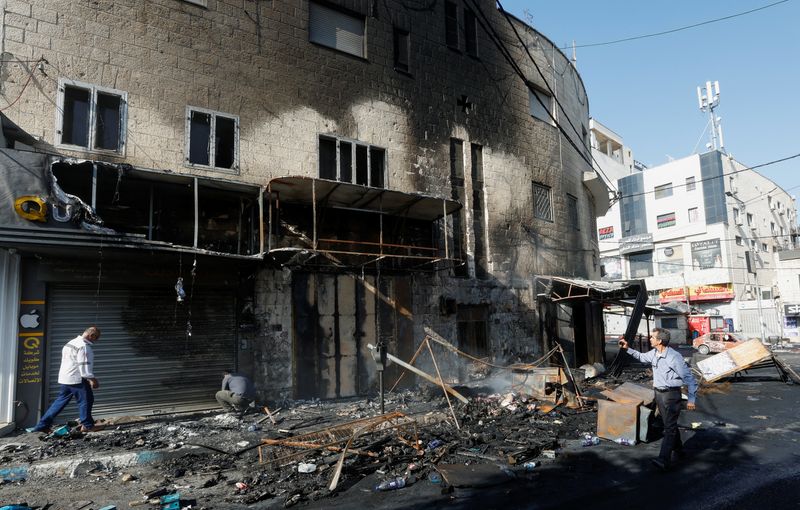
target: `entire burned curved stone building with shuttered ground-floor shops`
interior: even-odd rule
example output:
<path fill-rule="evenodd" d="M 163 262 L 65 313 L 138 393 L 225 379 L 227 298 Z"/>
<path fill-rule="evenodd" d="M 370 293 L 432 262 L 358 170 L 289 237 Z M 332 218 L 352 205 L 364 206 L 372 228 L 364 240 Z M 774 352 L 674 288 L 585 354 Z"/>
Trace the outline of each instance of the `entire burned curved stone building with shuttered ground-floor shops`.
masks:
<path fill-rule="evenodd" d="M 265 399 L 369 393 L 367 345 L 408 359 L 425 327 L 495 359 L 601 341 L 534 285 L 599 277 L 586 91 L 492 2 L 14 1 L 2 26 L 0 421 L 92 323 L 101 414 L 208 405 L 231 366 Z"/>

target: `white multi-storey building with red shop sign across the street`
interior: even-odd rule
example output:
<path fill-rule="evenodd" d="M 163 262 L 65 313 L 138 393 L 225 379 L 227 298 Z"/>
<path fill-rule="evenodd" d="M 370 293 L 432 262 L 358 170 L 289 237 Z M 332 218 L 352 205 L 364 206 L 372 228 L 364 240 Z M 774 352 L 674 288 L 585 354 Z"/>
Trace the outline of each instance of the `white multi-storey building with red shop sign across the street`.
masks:
<path fill-rule="evenodd" d="M 651 304 L 688 301 L 748 336 L 781 335 L 776 262 L 794 248 L 794 199 L 720 151 L 638 168 L 617 167 L 620 199 L 597 220 L 603 278 L 644 278 Z"/>

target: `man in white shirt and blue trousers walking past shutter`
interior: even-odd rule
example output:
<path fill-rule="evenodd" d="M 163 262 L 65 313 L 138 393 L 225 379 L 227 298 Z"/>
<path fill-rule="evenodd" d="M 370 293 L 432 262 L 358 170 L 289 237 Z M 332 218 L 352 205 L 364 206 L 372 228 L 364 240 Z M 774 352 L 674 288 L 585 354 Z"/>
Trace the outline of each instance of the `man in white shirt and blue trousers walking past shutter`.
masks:
<path fill-rule="evenodd" d="M 61 391 L 44 413 L 42 419 L 30 432 L 46 432 L 72 397 L 78 400 L 81 432 L 94 429 L 92 404 L 95 390 L 100 383 L 94 376 L 94 352 L 92 345 L 100 339 L 100 330 L 95 326 L 86 328 L 82 335 L 73 338 L 61 349 L 61 368 L 58 371 L 58 384 Z"/>

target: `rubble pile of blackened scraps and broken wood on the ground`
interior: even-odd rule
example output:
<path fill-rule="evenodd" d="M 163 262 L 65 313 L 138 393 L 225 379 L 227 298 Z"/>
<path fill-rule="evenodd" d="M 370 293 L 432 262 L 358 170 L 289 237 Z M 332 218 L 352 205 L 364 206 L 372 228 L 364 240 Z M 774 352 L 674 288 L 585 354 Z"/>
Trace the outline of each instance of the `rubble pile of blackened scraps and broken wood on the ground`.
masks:
<path fill-rule="evenodd" d="M 596 381 L 582 381 L 581 393 L 606 386 Z M 486 383 L 480 388 L 499 386 Z M 441 390 L 429 389 L 388 394 L 385 407 L 393 412 L 385 415 L 373 400 L 301 401 L 282 403 L 271 418 L 254 410 L 241 420 L 206 413 L 112 423 L 102 432 L 66 437 L 26 435 L 25 443 L 0 451 L 0 461 L 15 465 L 106 451 L 169 453 L 146 468 L 86 465 L 75 477 L 124 485 L 137 497 L 158 488 L 180 492 L 181 501 L 192 498 L 192 508 L 267 500 L 290 507 L 330 497 L 366 477 L 375 490 L 426 483 L 447 491 L 455 483 L 454 466 L 500 470 L 508 480 L 551 462 L 565 442 L 579 441 L 595 428 L 591 398 L 581 408 L 569 408 L 520 391 L 487 394 L 459 387 L 471 395 L 462 404 L 452 398 L 448 403 Z M 333 439 L 308 439 L 318 437 Z"/>

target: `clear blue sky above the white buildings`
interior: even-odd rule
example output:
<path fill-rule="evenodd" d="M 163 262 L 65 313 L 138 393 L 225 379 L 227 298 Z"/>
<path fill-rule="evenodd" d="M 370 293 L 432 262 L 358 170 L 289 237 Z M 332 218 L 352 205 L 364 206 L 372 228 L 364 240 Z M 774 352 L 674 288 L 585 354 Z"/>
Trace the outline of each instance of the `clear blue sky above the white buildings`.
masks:
<path fill-rule="evenodd" d="M 559 46 L 672 30 L 776 1 L 501 0 Z M 737 160 L 754 166 L 800 153 L 800 0 L 576 51 L 590 115 L 650 167 L 706 150 L 710 131 L 701 133 L 709 115 L 698 107 L 697 86 L 708 80 L 720 83 L 716 112 L 725 148 Z M 800 197 L 800 158 L 758 171 Z"/>

